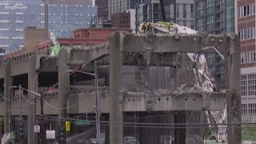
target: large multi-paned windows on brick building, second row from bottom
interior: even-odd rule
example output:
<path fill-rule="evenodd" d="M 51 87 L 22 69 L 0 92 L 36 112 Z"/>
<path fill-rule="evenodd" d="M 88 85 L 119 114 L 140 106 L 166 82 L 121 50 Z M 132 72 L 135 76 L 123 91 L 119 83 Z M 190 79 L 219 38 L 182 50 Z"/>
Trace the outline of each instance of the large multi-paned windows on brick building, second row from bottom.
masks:
<path fill-rule="evenodd" d="M 241 75 L 241 96 L 256 96 L 256 74 Z"/>

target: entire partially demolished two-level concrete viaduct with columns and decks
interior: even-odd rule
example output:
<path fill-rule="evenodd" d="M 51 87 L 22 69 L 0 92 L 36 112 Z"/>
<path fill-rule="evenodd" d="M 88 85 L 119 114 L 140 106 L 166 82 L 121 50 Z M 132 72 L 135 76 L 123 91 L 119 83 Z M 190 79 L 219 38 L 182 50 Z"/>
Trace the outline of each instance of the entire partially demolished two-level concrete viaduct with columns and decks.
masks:
<path fill-rule="evenodd" d="M 206 93 L 196 88 L 182 89 L 181 86 L 187 81 L 185 53 L 200 54 L 206 46 L 214 46 L 225 55 L 226 90 Z M 206 52 L 216 53 L 216 51 Z M 62 49 L 58 58 L 34 54 L 2 62 L 0 82 L 4 89 L 4 100 L 0 102 L 0 115 L 4 117 L 5 132 L 10 131 L 11 117 L 21 113 L 27 117 L 28 143 L 34 144 L 34 115 L 40 115 L 40 98 L 28 92 L 25 97 L 32 104 L 22 99 L 22 110 L 20 110 L 10 86 L 21 84 L 28 90 L 38 92 L 39 84 L 42 86 L 54 83 L 52 82 L 54 78 L 51 78 L 54 73 L 55 76 L 58 74 L 55 78 L 58 78 L 58 90 L 43 94 L 46 102 L 43 105 L 44 114 L 58 115 L 59 124 L 63 124 L 63 118 L 68 118 L 72 114 L 94 114 L 96 101 L 94 88 L 71 90 L 69 71 L 74 66 L 84 66 L 84 70 L 93 71 L 94 62 L 97 62 L 99 69 L 101 66 L 107 67 L 99 70 L 99 77 L 105 78 L 105 83 L 109 83 L 108 88 L 106 86 L 99 88 L 100 111 L 106 116 L 105 120 L 109 121 L 109 130 L 106 128 L 106 143 L 123 143 L 125 113 L 136 112 L 140 117 L 140 114 L 174 111 L 172 124 L 178 123 L 171 128 L 174 130 L 174 142 L 184 144 L 186 143 L 186 120 L 184 121 L 186 116 L 182 113 L 184 111 L 222 110 L 227 104 L 227 121 L 241 122 L 239 61 L 239 38 L 234 34 L 171 35 L 116 32 L 104 45 Z M 123 77 L 126 74 L 126 66 L 137 67 L 137 70 L 130 73 L 133 76 L 128 79 Z M 174 86 L 171 88 L 166 86 L 164 90 L 150 87 L 149 82 L 146 82 L 150 78 L 147 78 L 145 72 L 150 66 L 173 67 L 171 80 Z M 81 76 L 81 78 L 85 77 Z M 125 84 L 126 81 L 132 81 L 131 83 L 137 85 L 130 86 Z M 139 122 L 146 122 L 146 118 Z M 240 127 L 240 125 L 228 125 L 229 143 L 241 143 Z M 146 138 L 146 134 L 149 135 L 152 130 L 146 131 L 146 127 L 143 126 L 138 129 L 138 133 L 142 134 L 138 141 L 142 144 L 150 143 L 147 141 L 150 138 Z M 153 137 L 159 134 L 154 134 Z"/>

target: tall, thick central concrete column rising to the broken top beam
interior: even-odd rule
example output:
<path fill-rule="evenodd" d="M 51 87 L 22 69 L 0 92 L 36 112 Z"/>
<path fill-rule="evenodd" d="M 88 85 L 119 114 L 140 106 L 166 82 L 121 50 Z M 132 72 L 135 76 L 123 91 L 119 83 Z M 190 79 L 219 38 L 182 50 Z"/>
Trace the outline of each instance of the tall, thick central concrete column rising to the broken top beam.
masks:
<path fill-rule="evenodd" d="M 110 143 L 123 143 L 122 104 L 119 101 L 119 90 L 122 89 L 122 52 L 120 51 L 120 34 L 110 38 Z M 114 122 L 118 122 L 114 123 Z"/>

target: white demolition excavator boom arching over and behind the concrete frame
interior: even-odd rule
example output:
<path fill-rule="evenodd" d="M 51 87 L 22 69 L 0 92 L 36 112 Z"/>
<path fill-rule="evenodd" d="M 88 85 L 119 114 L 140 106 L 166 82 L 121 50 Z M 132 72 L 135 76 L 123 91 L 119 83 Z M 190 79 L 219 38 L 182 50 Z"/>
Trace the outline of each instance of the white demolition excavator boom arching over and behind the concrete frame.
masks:
<path fill-rule="evenodd" d="M 154 29 L 160 30 L 167 34 L 197 34 L 198 31 L 192 30 L 186 26 L 179 26 L 176 23 L 170 22 L 142 22 L 140 23 L 138 30 L 139 33 L 146 33 L 149 31 L 153 31 Z M 214 50 L 216 50 L 214 48 Z M 218 54 L 218 50 L 216 50 Z M 194 54 L 187 53 L 188 57 L 192 62 L 196 62 L 198 64 L 198 68 L 194 68 L 194 76 L 196 78 L 195 86 L 198 90 L 206 91 L 206 92 L 214 92 L 217 91 L 217 87 L 214 84 L 215 78 L 214 75 L 210 73 L 210 69 L 206 62 L 206 57 L 204 54 Z M 223 58 L 223 56 L 221 55 Z M 226 122 L 226 109 L 221 112 L 214 111 L 206 111 L 207 121 L 211 124 L 210 128 L 213 128 L 217 125 L 218 131 L 214 132 L 214 129 L 211 129 L 212 133 L 218 133 L 217 142 L 226 142 L 226 126 L 218 125 L 218 123 Z"/>

